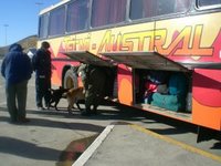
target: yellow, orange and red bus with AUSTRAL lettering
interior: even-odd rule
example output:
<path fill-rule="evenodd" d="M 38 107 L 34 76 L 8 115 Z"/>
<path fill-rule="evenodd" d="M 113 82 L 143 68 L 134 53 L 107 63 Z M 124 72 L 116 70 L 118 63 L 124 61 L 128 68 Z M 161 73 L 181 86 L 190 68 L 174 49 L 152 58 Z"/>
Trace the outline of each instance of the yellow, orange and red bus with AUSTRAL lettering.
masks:
<path fill-rule="evenodd" d="M 54 85 L 80 63 L 107 71 L 109 100 L 221 132 L 221 0 L 63 0 L 39 17 Z"/>

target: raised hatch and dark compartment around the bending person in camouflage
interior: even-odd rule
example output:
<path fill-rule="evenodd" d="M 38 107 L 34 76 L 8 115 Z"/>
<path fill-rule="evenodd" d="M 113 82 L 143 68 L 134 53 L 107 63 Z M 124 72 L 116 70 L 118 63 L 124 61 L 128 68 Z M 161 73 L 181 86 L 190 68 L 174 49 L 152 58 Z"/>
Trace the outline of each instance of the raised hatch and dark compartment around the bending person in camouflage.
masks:
<path fill-rule="evenodd" d="M 116 66 L 109 60 L 102 59 L 90 51 L 71 51 L 63 52 L 63 54 L 73 61 L 99 66 L 106 74 L 105 96 L 117 98 L 117 89 L 115 89 Z M 81 80 L 78 82 L 82 84 Z"/>

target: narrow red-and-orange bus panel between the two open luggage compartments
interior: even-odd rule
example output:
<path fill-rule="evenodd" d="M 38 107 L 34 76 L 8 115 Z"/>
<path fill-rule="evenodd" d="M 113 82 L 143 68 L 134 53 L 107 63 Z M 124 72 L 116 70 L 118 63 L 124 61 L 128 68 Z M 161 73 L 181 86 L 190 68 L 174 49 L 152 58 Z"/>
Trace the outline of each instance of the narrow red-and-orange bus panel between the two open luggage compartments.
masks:
<path fill-rule="evenodd" d="M 119 103 L 133 105 L 133 73 L 131 70 L 124 64 L 118 65 L 118 100 Z"/>

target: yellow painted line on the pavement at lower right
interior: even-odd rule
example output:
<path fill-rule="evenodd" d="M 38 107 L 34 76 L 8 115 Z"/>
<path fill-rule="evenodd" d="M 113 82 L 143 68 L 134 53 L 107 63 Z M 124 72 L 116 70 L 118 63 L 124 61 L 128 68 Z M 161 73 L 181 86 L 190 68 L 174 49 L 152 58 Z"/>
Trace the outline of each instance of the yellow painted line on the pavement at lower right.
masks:
<path fill-rule="evenodd" d="M 182 147 L 182 148 L 185 148 L 185 149 L 187 149 L 187 151 L 189 151 L 189 152 L 192 152 L 192 153 L 196 153 L 196 154 L 206 156 L 206 157 L 208 157 L 208 158 L 211 158 L 211 159 L 213 159 L 213 160 L 218 160 L 218 162 L 221 163 L 221 156 L 213 155 L 213 154 L 208 153 L 208 152 L 206 152 L 206 151 L 202 151 L 202 149 L 200 149 L 200 148 L 197 148 L 197 147 L 190 146 L 190 145 L 188 145 L 188 144 L 178 142 L 178 141 L 176 141 L 176 139 L 173 139 L 173 138 L 170 138 L 170 137 L 167 137 L 167 136 L 164 136 L 164 135 L 159 135 L 159 134 L 157 134 L 157 133 L 155 133 L 155 132 L 151 132 L 151 131 L 149 131 L 149 129 L 147 129 L 147 128 L 144 128 L 143 126 L 139 126 L 139 125 L 129 124 L 129 126 L 131 126 L 133 128 L 135 128 L 135 129 L 137 129 L 137 131 L 140 131 L 140 132 L 143 132 L 143 133 L 145 133 L 145 134 L 151 135 L 151 136 L 154 136 L 154 137 L 156 137 L 156 138 L 164 139 L 164 141 L 168 142 L 168 143 L 170 143 L 170 144 L 173 144 L 173 145 L 178 145 L 178 146 L 180 146 L 180 147 Z"/>

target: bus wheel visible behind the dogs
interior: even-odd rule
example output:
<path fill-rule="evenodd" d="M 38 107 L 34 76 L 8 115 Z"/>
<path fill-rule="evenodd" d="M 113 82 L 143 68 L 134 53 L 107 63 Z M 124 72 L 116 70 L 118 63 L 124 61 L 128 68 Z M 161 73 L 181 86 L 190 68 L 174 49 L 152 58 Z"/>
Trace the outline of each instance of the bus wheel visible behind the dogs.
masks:
<path fill-rule="evenodd" d="M 77 76 L 72 69 L 67 70 L 64 75 L 64 89 L 78 87 Z"/>

